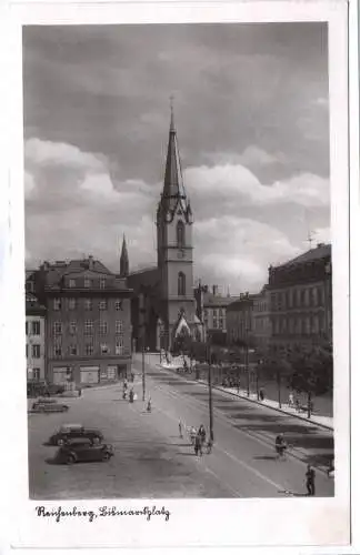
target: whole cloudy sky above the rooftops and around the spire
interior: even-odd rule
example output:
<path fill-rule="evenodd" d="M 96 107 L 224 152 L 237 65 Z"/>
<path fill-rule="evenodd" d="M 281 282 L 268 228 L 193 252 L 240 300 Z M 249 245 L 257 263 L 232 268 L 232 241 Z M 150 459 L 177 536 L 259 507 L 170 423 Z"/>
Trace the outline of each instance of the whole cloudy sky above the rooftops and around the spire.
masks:
<path fill-rule="evenodd" d="M 329 240 L 324 23 L 28 27 L 27 266 L 117 270 L 122 233 L 132 270 L 156 263 L 171 94 L 196 279 L 257 291 Z"/>

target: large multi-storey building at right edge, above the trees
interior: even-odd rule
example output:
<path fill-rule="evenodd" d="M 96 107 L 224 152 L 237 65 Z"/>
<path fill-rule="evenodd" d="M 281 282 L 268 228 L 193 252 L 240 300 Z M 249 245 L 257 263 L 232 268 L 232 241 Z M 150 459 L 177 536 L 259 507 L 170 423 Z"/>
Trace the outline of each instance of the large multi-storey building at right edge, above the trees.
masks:
<path fill-rule="evenodd" d="M 331 245 L 269 269 L 271 346 L 332 343 Z"/>

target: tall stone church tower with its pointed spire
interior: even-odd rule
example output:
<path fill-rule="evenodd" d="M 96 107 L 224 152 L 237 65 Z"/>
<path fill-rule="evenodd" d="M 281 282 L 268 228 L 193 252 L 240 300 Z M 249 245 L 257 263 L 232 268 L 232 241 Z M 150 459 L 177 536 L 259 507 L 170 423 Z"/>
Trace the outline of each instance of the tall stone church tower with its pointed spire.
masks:
<path fill-rule="evenodd" d="M 157 212 L 162 346 L 171 349 L 179 329 L 193 333 L 192 212 L 187 196 L 171 107 L 168 154 Z"/>

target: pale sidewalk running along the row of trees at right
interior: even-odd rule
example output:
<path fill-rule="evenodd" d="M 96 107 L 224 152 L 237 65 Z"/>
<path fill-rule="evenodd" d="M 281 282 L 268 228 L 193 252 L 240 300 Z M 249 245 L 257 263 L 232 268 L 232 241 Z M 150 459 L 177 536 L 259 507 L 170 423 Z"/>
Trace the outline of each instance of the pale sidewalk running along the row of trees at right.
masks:
<path fill-rule="evenodd" d="M 176 371 L 178 365 L 174 364 L 157 364 L 158 367 L 162 367 L 163 370 L 171 370 Z M 179 374 L 183 375 L 187 380 L 192 380 L 189 374 Z M 192 380 L 194 381 L 194 380 Z M 201 383 L 203 385 L 207 385 L 207 382 L 204 380 L 197 380 L 198 383 Z M 240 398 L 244 398 L 246 401 L 249 401 L 249 403 L 256 403 L 258 405 L 263 405 L 267 406 L 268 408 L 272 408 L 273 411 L 278 411 L 283 414 L 289 414 L 293 416 L 294 418 L 299 418 L 302 421 L 308 422 L 309 424 L 314 424 L 320 427 L 324 427 L 327 430 L 333 431 L 333 418 L 331 416 L 320 416 L 317 414 L 312 414 L 310 418 L 308 418 L 306 413 L 299 413 L 296 411 L 296 408 L 291 408 L 287 406 L 286 403 L 282 403 L 281 408 L 279 407 L 279 403 L 277 401 L 272 401 L 271 398 L 264 398 L 263 401 L 258 400 L 258 396 L 256 393 L 250 393 L 250 396 L 248 397 L 248 393 L 246 390 L 240 389 L 239 392 L 236 387 L 223 387 L 221 385 L 213 385 L 214 390 L 222 391 L 224 393 L 229 393 L 230 395 L 234 395 Z"/>

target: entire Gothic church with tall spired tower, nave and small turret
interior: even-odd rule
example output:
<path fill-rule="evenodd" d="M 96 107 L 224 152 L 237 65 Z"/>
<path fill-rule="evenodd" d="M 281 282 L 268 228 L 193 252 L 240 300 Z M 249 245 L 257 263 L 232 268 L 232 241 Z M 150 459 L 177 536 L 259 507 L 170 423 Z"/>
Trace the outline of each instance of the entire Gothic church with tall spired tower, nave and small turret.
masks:
<path fill-rule="evenodd" d="M 181 172 L 172 107 L 163 189 L 154 224 L 157 266 L 130 272 L 126 238 L 120 256 L 120 274 L 133 291 L 132 347 L 137 351 L 172 351 L 181 337 L 204 339 L 193 287 L 193 214 Z"/>

